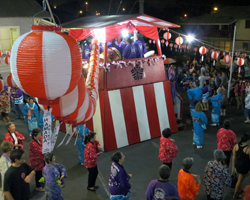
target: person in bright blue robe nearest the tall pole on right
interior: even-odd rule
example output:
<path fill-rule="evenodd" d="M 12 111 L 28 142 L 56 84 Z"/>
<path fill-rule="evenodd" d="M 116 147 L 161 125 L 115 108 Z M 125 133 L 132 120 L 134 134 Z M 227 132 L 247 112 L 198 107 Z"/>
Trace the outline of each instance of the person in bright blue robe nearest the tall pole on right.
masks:
<path fill-rule="evenodd" d="M 210 126 L 218 126 L 220 123 L 220 109 L 222 104 L 222 89 L 217 89 L 217 94 L 211 98 L 211 102 L 213 105 L 211 117 L 212 117 L 212 124 Z"/>

